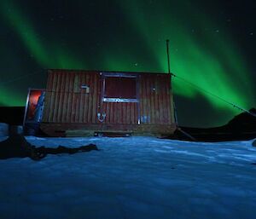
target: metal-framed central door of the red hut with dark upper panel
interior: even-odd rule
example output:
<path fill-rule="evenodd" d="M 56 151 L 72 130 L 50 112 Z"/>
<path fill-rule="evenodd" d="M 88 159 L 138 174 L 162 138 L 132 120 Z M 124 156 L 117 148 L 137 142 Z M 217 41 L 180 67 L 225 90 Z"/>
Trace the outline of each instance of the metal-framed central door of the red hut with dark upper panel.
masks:
<path fill-rule="evenodd" d="M 98 119 L 102 124 L 138 124 L 137 75 L 102 74 L 102 104 Z"/>

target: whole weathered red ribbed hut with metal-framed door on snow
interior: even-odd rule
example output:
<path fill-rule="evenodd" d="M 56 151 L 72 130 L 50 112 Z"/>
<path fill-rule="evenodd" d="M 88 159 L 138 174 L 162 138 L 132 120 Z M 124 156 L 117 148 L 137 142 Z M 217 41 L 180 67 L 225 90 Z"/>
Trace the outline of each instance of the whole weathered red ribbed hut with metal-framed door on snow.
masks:
<path fill-rule="evenodd" d="M 49 70 L 40 129 L 52 136 L 170 135 L 171 75 Z"/>

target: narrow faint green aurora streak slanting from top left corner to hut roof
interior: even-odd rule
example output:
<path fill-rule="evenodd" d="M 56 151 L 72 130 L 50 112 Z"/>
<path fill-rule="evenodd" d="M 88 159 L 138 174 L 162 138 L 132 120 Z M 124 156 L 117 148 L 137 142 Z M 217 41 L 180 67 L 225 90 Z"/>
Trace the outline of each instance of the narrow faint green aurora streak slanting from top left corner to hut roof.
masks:
<path fill-rule="evenodd" d="M 3 1 L 1 11 L 9 26 L 12 26 L 20 37 L 28 52 L 33 55 L 40 66 L 44 68 L 85 68 L 84 61 L 73 58 L 70 51 L 59 46 L 58 43 L 45 43 L 35 32 L 32 22 L 11 1 Z"/>

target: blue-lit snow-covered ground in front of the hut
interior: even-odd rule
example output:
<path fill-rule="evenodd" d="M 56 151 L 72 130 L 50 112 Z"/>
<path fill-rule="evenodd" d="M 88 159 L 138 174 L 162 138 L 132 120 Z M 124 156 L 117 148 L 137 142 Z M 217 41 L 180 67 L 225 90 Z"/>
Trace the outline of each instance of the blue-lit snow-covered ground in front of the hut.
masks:
<path fill-rule="evenodd" d="M 1 219 L 256 218 L 252 141 L 26 139 L 100 151 L 0 160 Z"/>

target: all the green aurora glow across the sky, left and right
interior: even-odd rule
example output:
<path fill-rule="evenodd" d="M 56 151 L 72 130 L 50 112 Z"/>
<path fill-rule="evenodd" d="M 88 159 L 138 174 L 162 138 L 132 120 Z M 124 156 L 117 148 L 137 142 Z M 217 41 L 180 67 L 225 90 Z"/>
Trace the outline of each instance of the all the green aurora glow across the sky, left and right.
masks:
<path fill-rule="evenodd" d="M 88 45 L 82 42 L 88 32 L 81 32 L 82 36 L 77 39 L 81 47 L 74 43 L 76 37 L 72 34 L 64 37 L 65 43 L 61 44 L 58 40 L 63 34 L 60 26 L 56 26 L 55 33 L 43 28 L 43 37 L 32 16 L 20 4 L 2 1 L 0 6 L 3 22 L 41 68 L 167 72 L 165 46 L 168 38 L 173 73 L 240 107 L 248 109 L 255 105 L 250 70 L 241 49 L 224 26 L 216 28 L 214 20 L 189 1 L 142 2 L 124 0 L 115 5 L 122 21 L 113 25 L 112 35 L 106 34 L 104 39 L 104 32 L 97 31 L 100 37 L 93 42 L 96 46 L 90 52 Z M 98 44 L 101 46 L 97 48 Z M 230 117 L 239 113 L 224 101 L 178 78 L 173 78 L 172 83 L 177 96 L 195 100 L 203 95 L 212 108 L 229 112 Z M 24 106 L 25 91 L 23 95 L 16 95 L 6 84 L 0 83 L 0 92 L 1 106 Z M 215 124 L 221 123 L 223 121 L 215 121 Z"/>

